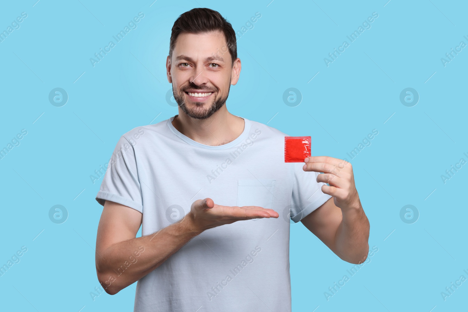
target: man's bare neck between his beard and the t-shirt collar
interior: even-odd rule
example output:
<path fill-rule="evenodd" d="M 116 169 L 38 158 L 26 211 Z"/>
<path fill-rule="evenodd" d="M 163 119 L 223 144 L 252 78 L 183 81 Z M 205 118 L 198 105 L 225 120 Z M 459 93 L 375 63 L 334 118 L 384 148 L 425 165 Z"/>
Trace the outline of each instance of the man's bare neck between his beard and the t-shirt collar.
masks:
<path fill-rule="evenodd" d="M 206 119 L 191 118 L 179 108 L 172 125 L 186 137 L 211 146 L 234 141 L 244 131 L 244 120 L 229 113 L 226 105 Z"/>

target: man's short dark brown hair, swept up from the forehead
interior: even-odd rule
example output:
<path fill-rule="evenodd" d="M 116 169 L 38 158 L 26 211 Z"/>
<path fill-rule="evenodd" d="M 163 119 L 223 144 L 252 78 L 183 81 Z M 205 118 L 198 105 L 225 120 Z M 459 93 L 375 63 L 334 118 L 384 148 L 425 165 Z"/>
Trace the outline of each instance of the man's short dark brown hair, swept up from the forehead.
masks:
<path fill-rule="evenodd" d="M 174 26 L 172 26 L 171 40 L 169 43 L 169 58 L 172 58 L 172 51 L 176 47 L 177 37 L 181 33 L 200 34 L 217 30 L 224 34 L 227 43 L 227 51 L 231 54 L 232 65 L 234 65 L 234 60 L 237 58 L 237 44 L 234 29 L 231 23 L 222 17 L 219 12 L 206 7 L 193 8 L 179 15 L 176 22 L 174 22 Z M 223 47 L 223 49 L 225 49 L 225 47 Z"/>

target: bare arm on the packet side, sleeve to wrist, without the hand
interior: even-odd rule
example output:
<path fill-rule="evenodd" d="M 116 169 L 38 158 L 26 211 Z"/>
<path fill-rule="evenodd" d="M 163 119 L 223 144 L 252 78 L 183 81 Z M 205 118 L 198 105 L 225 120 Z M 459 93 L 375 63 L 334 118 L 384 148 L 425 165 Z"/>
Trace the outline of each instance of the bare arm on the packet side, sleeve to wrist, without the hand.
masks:
<path fill-rule="evenodd" d="M 362 207 L 342 213 L 332 197 L 301 222 L 344 261 L 359 264 L 366 260 L 369 221 Z"/>

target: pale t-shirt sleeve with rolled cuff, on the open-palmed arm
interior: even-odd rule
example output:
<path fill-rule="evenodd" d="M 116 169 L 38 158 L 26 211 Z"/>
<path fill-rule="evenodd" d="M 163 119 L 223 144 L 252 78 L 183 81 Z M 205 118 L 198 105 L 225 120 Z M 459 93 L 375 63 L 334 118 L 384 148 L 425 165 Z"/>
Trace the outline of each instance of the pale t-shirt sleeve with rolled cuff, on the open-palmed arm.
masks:
<path fill-rule="evenodd" d="M 96 201 L 102 206 L 106 200 L 143 213 L 135 151 L 124 136 L 117 142 L 102 179 L 101 188 L 96 195 Z"/>

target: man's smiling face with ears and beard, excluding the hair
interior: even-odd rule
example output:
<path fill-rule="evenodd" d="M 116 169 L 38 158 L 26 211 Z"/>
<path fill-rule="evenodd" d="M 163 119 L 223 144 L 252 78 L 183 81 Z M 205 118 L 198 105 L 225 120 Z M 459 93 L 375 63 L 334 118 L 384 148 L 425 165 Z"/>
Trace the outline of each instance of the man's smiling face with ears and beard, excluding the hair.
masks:
<path fill-rule="evenodd" d="M 230 86 L 237 83 L 241 70 L 238 58 L 232 65 L 220 31 L 180 34 L 166 65 L 177 104 L 195 119 L 212 116 L 226 103 Z"/>

